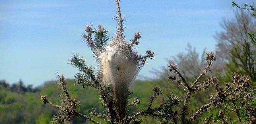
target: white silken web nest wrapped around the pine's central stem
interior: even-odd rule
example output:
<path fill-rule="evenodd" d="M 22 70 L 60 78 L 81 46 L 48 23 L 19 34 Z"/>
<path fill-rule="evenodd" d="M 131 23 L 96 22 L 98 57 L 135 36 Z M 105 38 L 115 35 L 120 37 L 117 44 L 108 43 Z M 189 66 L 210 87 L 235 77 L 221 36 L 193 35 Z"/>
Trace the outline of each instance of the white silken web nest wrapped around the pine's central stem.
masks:
<path fill-rule="evenodd" d="M 123 37 L 113 38 L 100 55 L 103 83 L 119 92 L 132 91 L 140 66 Z"/>

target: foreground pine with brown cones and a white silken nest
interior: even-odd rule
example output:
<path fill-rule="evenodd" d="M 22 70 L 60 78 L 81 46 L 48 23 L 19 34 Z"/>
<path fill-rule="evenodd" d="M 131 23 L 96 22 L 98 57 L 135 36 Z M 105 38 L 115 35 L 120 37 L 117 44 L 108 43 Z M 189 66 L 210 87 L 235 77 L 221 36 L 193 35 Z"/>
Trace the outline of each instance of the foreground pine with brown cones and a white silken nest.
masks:
<path fill-rule="evenodd" d="M 91 86 L 99 90 L 101 102 L 105 107 L 105 113 L 98 113 L 93 109 L 91 110 L 91 116 L 103 118 L 105 122 L 109 124 L 140 124 L 143 120 L 141 120 L 139 116 L 158 118 L 161 124 L 178 124 L 179 122 L 182 124 L 190 124 L 200 114 L 206 112 L 213 106 L 234 102 L 242 98 L 244 98 L 244 101 L 248 100 L 247 97 L 242 95 L 242 92 L 239 92 L 239 90 L 247 88 L 248 76 L 240 78 L 238 74 L 235 74 L 232 76 L 233 82 L 226 85 L 226 89 L 223 89 L 217 78 L 213 76 L 205 80 L 204 83 L 200 83 L 202 77 L 210 71 L 212 62 L 216 59 L 213 56 L 213 52 L 209 52 L 205 59 L 206 66 L 203 72 L 195 78 L 194 82 L 188 82 L 174 64 L 169 64 L 169 71 L 173 71 L 178 75 L 178 78 L 169 76 L 169 79 L 171 82 L 179 84 L 186 90 L 186 96 L 182 104 L 182 112 L 175 110 L 175 106 L 178 106 L 181 102 L 181 98 L 174 94 L 169 94 L 159 106 L 153 106 L 157 96 L 163 93 L 162 90 L 155 86 L 147 108 L 138 110 L 138 112 L 134 114 L 127 114 L 127 107 L 140 103 L 138 98 L 134 98 L 131 103 L 128 103 L 128 99 L 131 98 L 132 88 L 138 72 L 147 61 L 147 58 L 153 59 L 154 52 L 147 50 L 147 55 L 141 56 L 133 51 L 132 47 L 134 44 L 138 45 L 138 39 L 141 38 L 139 32 L 134 34 L 134 39 L 131 40 L 130 44 L 125 41 L 123 36 L 124 20 L 121 17 L 119 6 L 120 0 L 115 0 L 115 2 L 117 7 L 117 17 L 115 19 L 118 22 L 118 30 L 110 42 L 107 43 L 109 39 L 107 37 L 108 30 L 104 30 L 101 26 L 98 26 L 98 30 L 94 30 L 92 26 L 86 26 L 85 31 L 87 34 L 83 34 L 83 37 L 93 51 L 94 57 L 100 66 L 99 70 L 96 70 L 93 66 L 87 65 L 83 56 L 74 54 L 73 58 L 70 59 L 70 64 L 80 71 L 75 76 L 76 84 L 82 87 Z M 95 34 L 94 40 L 92 37 L 93 34 Z M 50 104 L 60 109 L 59 114 L 54 117 L 53 123 L 63 124 L 74 116 L 78 116 L 95 124 L 100 124 L 101 122 L 98 122 L 91 116 L 78 112 L 78 99 L 76 97 L 70 97 L 64 76 L 58 75 L 58 79 L 60 86 L 62 86 L 62 91 L 65 94 L 65 97 L 61 100 L 62 105 L 59 106 L 48 101 L 46 95 L 41 96 L 41 100 L 43 100 L 44 104 Z M 209 94 L 211 95 L 209 103 L 200 106 L 194 113 L 189 113 L 188 102 L 192 94 L 207 89 L 210 86 L 216 89 L 216 94 Z M 243 107 L 243 104 L 240 107 Z M 211 121 L 212 118 L 213 116 L 207 118 L 206 123 Z"/>

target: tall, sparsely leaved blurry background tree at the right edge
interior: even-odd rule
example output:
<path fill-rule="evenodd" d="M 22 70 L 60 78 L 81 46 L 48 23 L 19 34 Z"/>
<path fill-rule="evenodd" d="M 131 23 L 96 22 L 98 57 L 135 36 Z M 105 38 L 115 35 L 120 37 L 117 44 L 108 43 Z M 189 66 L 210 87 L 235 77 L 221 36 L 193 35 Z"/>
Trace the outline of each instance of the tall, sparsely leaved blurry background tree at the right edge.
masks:
<path fill-rule="evenodd" d="M 235 12 L 235 19 L 223 20 L 221 27 L 224 31 L 217 32 L 214 36 L 217 40 L 216 54 L 220 58 L 218 65 L 222 68 L 226 66 L 227 75 L 239 72 L 249 75 L 255 82 L 256 47 L 251 42 L 248 32 L 253 34 L 256 32 L 256 18 L 250 13 L 239 10 Z"/>

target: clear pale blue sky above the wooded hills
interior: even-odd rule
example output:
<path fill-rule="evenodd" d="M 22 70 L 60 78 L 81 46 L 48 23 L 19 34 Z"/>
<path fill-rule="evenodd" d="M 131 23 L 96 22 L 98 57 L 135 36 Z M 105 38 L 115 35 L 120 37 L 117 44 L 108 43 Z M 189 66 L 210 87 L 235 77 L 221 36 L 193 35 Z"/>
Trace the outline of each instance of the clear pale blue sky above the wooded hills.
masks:
<path fill-rule="evenodd" d="M 238 4 L 252 0 L 237 0 Z M 153 77 L 152 68 L 167 66 L 166 58 L 184 52 L 188 43 L 198 52 L 215 51 L 213 35 L 223 18 L 233 18 L 232 0 L 121 0 L 126 40 L 140 31 L 138 53 L 150 49 L 140 76 Z M 0 80 L 38 86 L 56 80 L 56 73 L 73 78 L 78 72 L 68 59 L 79 53 L 97 67 L 81 34 L 88 24 L 116 32 L 114 0 L 1 0 Z"/>

